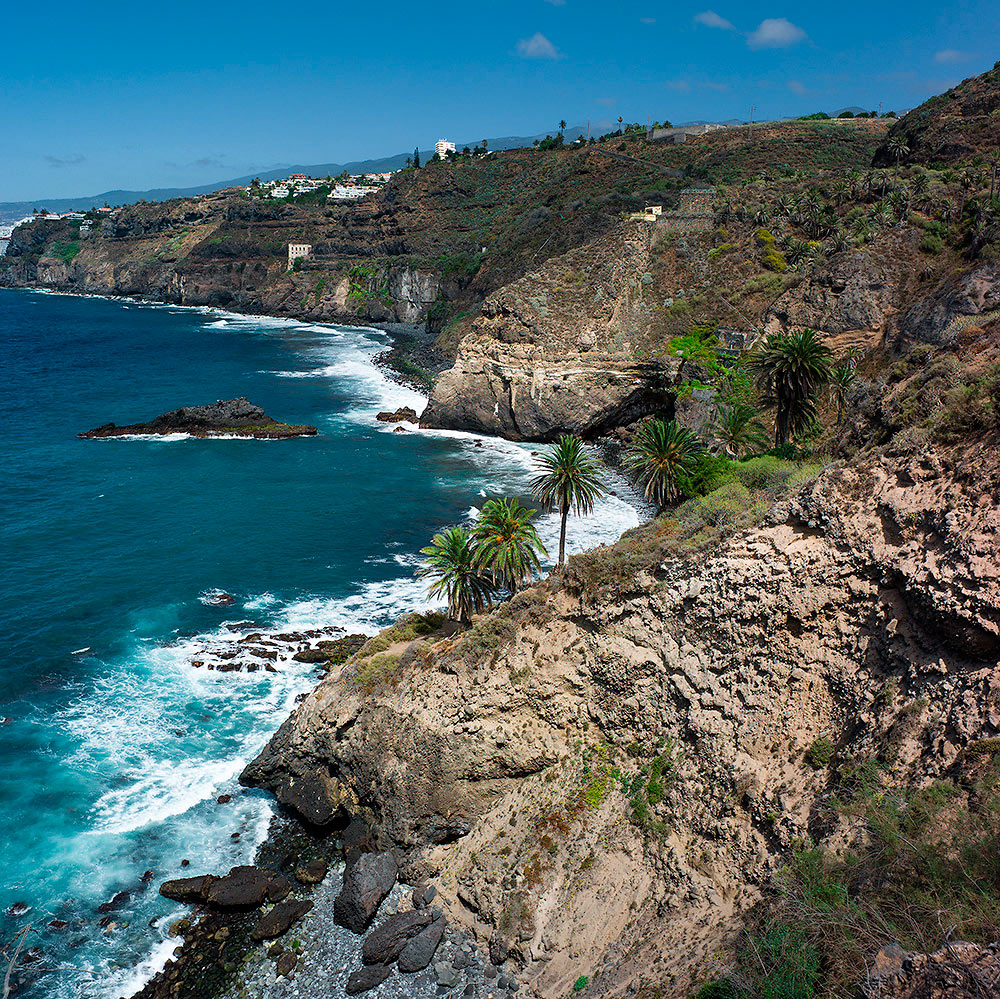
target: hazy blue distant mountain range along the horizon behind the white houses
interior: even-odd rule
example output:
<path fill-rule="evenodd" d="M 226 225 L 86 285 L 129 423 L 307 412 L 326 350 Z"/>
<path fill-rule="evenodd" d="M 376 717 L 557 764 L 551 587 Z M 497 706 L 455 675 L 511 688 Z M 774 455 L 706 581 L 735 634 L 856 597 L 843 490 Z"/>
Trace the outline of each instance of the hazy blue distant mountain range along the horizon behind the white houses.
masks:
<path fill-rule="evenodd" d="M 565 136 L 572 141 L 586 134 L 586 129 L 577 125 L 567 128 Z M 555 129 L 549 135 L 555 133 Z M 546 133 L 539 135 L 504 135 L 499 138 L 487 139 L 490 149 L 520 149 L 530 146 L 535 139 L 544 139 Z M 468 146 L 470 149 L 481 140 L 472 139 L 469 142 L 456 142 L 458 149 Z M 47 208 L 50 212 L 85 212 L 90 208 L 100 208 L 107 202 L 112 207 L 131 205 L 137 201 L 169 201 L 171 198 L 190 197 L 195 194 L 211 194 L 226 187 L 245 187 L 254 177 L 260 180 L 278 180 L 291 173 L 304 173 L 310 177 L 336 176 L 346 170 L 348 173 L 385 173 L 406 166 L 406 159 L 412 156 L 412 151 L 396 153 L 375 160 L 354 160 L 350 163 L 292 163 L 289 166 L 275 170 L 265 170 L 261 173 L 247 174 L 245 177 L 233 177 L 230 180 L 220 180 L 214 184 L 200 184 L 197 187 L 156 187 L 148 191 L 104 191 L 90 197 L 81 198 L 38 198 L 34 201 L 0 201 L 0 224 L 13 222 L 16 219 L 30 215 L 35 208 Z M 425 161 L 434 155 L 433 149 L 421 149 L 420 159 Z"/>

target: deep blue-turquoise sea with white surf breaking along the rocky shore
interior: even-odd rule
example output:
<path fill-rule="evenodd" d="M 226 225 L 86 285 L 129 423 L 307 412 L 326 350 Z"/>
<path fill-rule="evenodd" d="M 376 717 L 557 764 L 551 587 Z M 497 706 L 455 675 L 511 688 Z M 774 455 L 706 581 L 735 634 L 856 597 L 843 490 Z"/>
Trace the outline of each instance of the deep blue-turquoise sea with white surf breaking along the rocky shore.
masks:
<path fill-rule="evenodd" d="M 316 674 L 194 668 L 205 645 L 373 632 L 423 609 L 414 572 L 431 534 L 485 496 L 527 493 L 528 446 L 374 419 L 424 403 L 373 365 L 386 342 L 0 290 L 0 938 L 30 923 L 28 946 L 62 969 L 28 994 L 129 995 L 176 943 L 166 930 L 181 910 L 157 885 L 249 862 L 266 832 L 268 796 L 236 777 Z M 235 396 L 319 436 L 76 437 Z M 571 520 L 570 551 L 637 522 L 609 497 Z M 555 518 L 539 526 L 554 551 Z M 217 590 L 236 602 L 212 606 Z M 149 889 L 100 927 L 97 906 L 147 869 Z"/>

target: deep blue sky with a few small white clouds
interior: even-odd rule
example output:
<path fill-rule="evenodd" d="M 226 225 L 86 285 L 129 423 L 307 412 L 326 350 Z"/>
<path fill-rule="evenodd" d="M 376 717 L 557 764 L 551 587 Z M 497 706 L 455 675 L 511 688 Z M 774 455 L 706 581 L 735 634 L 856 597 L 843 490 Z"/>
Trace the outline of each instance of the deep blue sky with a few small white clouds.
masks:
<path fill-rule="evenodd" d="M 0 201 L 189 186 L 560 118 L 912 107 L 1000 59 L 996 0 L 7 5 Z"/>

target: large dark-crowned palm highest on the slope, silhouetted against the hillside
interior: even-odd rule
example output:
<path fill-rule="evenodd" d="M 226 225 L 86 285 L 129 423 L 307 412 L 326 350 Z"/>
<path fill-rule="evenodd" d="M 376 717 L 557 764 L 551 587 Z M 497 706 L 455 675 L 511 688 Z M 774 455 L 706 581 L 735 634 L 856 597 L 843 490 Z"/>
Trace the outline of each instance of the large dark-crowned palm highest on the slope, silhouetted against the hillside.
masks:
<path fill-rule="evenodd" d="M 816 393 L 830 380 L 833 354 L 814 330 L 772 333 L 750 355 L 757 388 L 777 407 L 774 444 L 782 447 L 816 417 Z"/>

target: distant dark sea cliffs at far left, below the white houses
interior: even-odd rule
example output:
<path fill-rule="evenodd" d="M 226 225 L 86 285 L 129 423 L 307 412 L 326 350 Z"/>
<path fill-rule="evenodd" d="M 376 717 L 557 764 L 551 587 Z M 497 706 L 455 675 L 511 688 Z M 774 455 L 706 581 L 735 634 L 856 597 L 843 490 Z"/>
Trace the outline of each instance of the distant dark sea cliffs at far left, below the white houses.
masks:
<path fill-rule="evenodd" d="M 9 285 L 341 322 L 418 323 L 435 302 L 462 293 L 460 280 L 407 258 L 359 263 L 317 257 L 289 271 L 279 251 L 287 250 L 281 240 L 303 238 L 305 223 L 294 218 L 281 223 L 284 232 L 258 218 L 255 226 L 268 231 L 234 242 L 218 213 L 191 221 L 182 206 L 157 207 L 164 210 L 148 218 L 128 210 L 107 220 L 98 235 L 77 241 L 70 259 L 51 252 L 72 240 L 67 226 L 43 222 L 18 229 L 0 277 Z"/>

